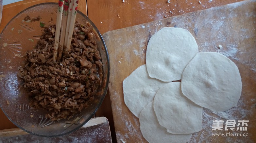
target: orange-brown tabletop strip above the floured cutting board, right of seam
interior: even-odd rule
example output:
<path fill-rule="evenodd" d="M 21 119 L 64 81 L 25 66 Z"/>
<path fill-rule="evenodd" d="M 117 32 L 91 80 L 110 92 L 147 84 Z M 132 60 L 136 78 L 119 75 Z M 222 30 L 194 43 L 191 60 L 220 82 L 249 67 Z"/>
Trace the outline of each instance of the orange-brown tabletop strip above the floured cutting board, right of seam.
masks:
<path fill-rule="evenodd" d="M 87 0 L 87 6 L 89 18 L 105 33 L 238 1 L 200 0 L 200 4 L 199 0 Z"/>

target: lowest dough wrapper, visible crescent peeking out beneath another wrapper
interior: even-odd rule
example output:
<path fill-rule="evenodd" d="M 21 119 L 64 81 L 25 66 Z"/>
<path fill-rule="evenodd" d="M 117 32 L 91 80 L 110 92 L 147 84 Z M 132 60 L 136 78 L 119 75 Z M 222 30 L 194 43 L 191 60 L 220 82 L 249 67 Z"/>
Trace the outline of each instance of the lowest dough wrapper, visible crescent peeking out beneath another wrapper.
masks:
<path fill-rule="evenodd" d="M 192 134 L 171 134 L 157 121 L 153 101 L 148 103 L 140 113 L 140 129 L 149 143 L 186 143 Z"/>

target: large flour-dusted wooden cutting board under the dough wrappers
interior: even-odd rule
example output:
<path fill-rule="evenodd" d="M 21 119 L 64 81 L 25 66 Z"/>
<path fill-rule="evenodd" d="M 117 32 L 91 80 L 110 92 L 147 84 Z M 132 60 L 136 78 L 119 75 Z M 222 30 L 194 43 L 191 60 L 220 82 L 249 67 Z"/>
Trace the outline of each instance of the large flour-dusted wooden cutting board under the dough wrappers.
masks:
<path fill-rule="evenodd" d="M 163 27 L 189 30 L 196 38 L 199 52 L 213 51 L 227 56 L 238 66 L 242 78 L 242 96 L 237 106 L 219 114 L 203 109 L 203 129 L 194 133 L 189 142 L 256 142 L 255 9 L 256 1 L 247 0 L 105 33 L 103 38 L 111 63 L 109 91 L 117 142 L 146 142 L 140 132 L 139 119 L 124 103 L 122 82 L 145 64 L 148 40 Z M 235 120 L 235 129 L 238 120 L 249 122 L 247 131 L 224 131 L 224 128 L 223 131 L 212 131 L 213 120 L 224 120 L 224 127 L 227 120 Z M 213 133 L 227 136 L 213 136 Z M 238 134 L 230 136 L 231 133 Z"/>

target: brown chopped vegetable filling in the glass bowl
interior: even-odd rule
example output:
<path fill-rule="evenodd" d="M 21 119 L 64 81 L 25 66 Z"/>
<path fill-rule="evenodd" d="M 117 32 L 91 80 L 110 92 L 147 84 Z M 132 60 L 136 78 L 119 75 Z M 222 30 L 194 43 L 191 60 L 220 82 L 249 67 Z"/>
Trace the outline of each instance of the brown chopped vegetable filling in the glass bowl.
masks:
<path fill-rule="evenodd" d="M 44 28 L 36 48 L 27 51 L 19 69 L 23 87 L 31 93 L 30 106 L 48 110 L 54 120 L 70 119 L 94 100 L 102 83 L 103 71 L 96 36 L 75 23 L 71 51 L 53 62 L 55 25 Z"/>

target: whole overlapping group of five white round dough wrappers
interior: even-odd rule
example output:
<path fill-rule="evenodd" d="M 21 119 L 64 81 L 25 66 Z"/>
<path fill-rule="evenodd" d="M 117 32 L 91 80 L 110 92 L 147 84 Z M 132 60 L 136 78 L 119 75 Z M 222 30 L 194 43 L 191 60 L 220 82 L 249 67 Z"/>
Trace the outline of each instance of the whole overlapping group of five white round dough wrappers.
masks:
<path fill-rule="evenodd" d="M 242 92 L 237 66 L 216 52 L 198 53 L 193 35 L 162 28 L 149 40 L 146 64 L 124 81 L 124 99 L 150 143 L 185 143 L 202 129 L 202 110 L 236 106 Z"/>

